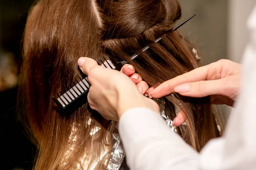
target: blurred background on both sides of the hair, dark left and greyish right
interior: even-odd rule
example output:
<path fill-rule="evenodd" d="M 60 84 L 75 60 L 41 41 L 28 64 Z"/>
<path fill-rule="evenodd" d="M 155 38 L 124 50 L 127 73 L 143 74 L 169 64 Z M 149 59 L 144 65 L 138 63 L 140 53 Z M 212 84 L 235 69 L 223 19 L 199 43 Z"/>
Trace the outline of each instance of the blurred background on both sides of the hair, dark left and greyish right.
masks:
<path fill-rule="evenodd" d="M 35 147 L 26 138 L 16 113 L 20 42 L 34 0 L 0 0 L 0 169 L 29 170 Z M 246 22 L 256 0 L 178 0 L 182 19 L 197 16 L 180 31 L 192 40 L 204 64 L 241 62 L 248 40 Z M 222 107 L 227 118 L 230 108 Z"/>

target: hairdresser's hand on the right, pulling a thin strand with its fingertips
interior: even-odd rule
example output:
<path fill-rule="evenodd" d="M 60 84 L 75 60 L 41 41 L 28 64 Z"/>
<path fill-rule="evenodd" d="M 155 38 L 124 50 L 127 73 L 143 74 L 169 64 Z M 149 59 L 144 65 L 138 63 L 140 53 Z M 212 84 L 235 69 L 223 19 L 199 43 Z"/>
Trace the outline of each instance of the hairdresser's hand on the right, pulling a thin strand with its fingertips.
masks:
<path fill-rule="evenodd" d="M 149 96 L 160 98 L 173 92 L 183 96 L 211 96 L 212 104 L 233 106 L 239 94 L 241 65 L 227 59 L 196 68 L 193 71 L 163 82 L 149 89 Z M 182 109 L 174 120 L 175 126 L 185 121 Z"/>

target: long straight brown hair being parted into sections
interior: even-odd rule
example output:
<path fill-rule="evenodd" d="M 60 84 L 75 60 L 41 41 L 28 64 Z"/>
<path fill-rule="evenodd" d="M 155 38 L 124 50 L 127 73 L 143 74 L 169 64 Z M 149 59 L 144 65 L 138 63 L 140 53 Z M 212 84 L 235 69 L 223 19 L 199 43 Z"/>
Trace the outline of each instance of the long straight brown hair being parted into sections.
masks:
<path fill-rule="evenodd" d="M 110 122 L 88 104 L 63 115 L 51 96 L 81 76 L 79 57 L 125 59 L 150 86 L 197 68 L 191 45 L 177 32 L 153 42 L 180 16 L 177 0 L 38 0 L 26 22 L 19 93 L 23 120 L 38 144 L 35 170 L 84 164 L 89 169 L 93 162 L 98 162 L 95 169 L 106 169 Z M 151 49 L 141 52 L 145 45 Z M 134 53 L 140 57 L 131 61 Z M 220 136 L 209 98 L 174 94 L 164 100 L 172 119 L 175 105 L 182 105 L 187 125 L 178 133 L 196 150 Z M 96 127 L 101 130 L 91 135 Z"/>

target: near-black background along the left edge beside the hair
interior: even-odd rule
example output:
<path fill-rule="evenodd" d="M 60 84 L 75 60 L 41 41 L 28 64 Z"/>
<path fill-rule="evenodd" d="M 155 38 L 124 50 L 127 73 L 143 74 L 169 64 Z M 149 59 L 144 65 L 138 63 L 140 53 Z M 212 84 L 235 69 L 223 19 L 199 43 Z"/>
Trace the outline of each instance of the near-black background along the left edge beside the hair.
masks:
<path fill-rule="evenodd" d="M 27 12 L 33 0 L 0 0 L 0 62 L 4 54 L 11 52 L 15 64 L 20 57 L 20 40 Z M 17 66 L 17 65 L 16 65 Z M 2 71 L 3 76 L 4 71 Z M 1 75 L 0 75 L 1 77 Z M 35 154 L 35 146 L 26 138 L 17 119 L 17 86 L 0 90 L 0 169 L 29 170 Z"/>

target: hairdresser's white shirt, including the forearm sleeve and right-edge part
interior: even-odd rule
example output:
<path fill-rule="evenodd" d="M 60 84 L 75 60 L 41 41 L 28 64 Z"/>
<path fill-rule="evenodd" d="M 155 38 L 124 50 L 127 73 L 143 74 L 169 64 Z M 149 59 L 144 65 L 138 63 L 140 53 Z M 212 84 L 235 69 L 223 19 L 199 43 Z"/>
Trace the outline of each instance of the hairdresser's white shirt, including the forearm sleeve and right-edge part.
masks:
<path fill-rule="evenodd" d="M 197 153 L 154 111 L 130 109 L 119 134 L 131 170 L 256 170 L 256 8 L 248 28 L 241 93 L 224 136 Z"/>

